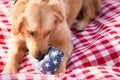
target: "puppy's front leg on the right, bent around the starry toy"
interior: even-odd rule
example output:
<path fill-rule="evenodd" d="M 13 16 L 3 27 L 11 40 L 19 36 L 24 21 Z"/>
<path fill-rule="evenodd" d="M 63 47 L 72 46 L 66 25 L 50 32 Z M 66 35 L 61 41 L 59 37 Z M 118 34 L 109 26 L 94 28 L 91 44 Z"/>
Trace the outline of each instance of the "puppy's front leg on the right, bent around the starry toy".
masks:
<path fill-rule="evenodd" d="M 70 58 L 71 52 L 73 50 L 73 44 L 71 41 L 70 30 L 68 27 L 64 27 L 65 25 L 63 25 L 64 29 L 62 29 L 62 31 L 60 31 L 58 33 L 55 33 L 57 36 L 52 38 L 53 43 L 51 45 L 54 46 L 55 48 L 61 50 L 64 53 L 64 57 L 62 58 L 62 61 L 59 65 L 57 71 L 55 72 L 55 74 L 66 71 L 66 64 L 67 64 L 67 61 Z"/>

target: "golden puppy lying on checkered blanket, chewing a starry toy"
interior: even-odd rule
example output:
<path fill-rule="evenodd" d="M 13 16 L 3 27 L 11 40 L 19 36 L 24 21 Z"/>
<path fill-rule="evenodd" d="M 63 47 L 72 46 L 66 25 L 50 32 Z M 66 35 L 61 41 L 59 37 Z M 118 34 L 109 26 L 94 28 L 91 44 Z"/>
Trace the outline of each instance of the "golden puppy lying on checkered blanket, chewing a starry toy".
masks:
<path fill-rule="evenodd" d="M 27 51 L 36 59 L 43 59 L 48 46 L 54 46 L 64 52 L 62 62 L 55 73 L 65 72 L 66 63 L 73 49 L 69 25 L 73 23 L 81 9 L 86 9 L 84 8 L 86 1 L 89 0 L 18 0 L 12 9 L 13 26 L 3 73 L 16 73 Z M 81 21 L 84 26 L 82 23 L 78 24 L 80 25 L 77 27 L 78 30 L 93 19 L 91 14 L 88 15 L 86 12 L 85 14 L 89 20 L 84 20 L 87 16 L 83 15 Z M 88 22 L 84 23 L 85 21 Z"/>

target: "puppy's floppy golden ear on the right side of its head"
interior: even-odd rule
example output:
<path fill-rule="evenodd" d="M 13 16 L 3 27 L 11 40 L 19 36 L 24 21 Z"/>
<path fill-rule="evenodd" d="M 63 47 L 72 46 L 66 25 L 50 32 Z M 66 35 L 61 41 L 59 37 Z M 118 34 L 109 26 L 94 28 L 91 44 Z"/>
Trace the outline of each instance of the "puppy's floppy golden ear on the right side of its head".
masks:
<path fill-rule="evenodd" d="M 58 0 L 50 0 L 49 1 L 49 5 L 53 9 L 53 13 L 54 13 L 55 17 L 61 23 L 64 20 L 64 16 L 61 13 L 61 10 L 60 10 L 60 7 L 59 7 L 58 3 L 59 3 Z"/>

